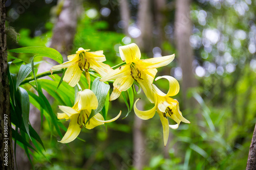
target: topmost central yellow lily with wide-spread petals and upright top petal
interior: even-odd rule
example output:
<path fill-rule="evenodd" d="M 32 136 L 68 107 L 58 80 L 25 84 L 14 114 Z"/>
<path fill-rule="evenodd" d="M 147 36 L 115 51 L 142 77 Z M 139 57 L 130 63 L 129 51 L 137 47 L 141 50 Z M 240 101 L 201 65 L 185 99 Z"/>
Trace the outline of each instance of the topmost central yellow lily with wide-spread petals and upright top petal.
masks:
<path fill-rule="evenodd" d="M 135 80 L 139 83 L 147 98 L 153 103 L 151 84 L 157 73 L 156 68 L 172 62 L 175 55 L 140 60 L 140 49 L 135 43 L 119 46 L 119 53 L 126 64 L 113 70 L 100 80 L 102 82 L 115 80 L 110 101 L 117 99 L 122 91 L 129 89 Z"/>

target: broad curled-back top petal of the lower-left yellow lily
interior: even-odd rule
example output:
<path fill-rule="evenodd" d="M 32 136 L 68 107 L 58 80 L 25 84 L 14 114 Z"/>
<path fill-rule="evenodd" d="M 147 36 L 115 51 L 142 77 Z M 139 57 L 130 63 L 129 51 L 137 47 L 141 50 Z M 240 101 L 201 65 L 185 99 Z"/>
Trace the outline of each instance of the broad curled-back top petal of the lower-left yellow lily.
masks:
<path fill-rule="evenodd" d="M 98 107 L 98 100 L 96 95 L 90 89 L 78 91 L 77 100 L 73 109 L 75 110 L 89 110 L 96 109 Z"/>

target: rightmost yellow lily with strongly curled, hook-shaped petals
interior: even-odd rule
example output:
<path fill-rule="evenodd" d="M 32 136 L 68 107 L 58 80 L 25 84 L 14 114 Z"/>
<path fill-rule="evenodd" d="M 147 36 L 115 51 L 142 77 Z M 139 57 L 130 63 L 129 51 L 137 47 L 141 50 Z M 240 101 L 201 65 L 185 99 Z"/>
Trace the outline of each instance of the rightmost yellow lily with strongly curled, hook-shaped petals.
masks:
<path fill-rule="evenodd" d="M 190 124 L 190 122 L 182 116 L 179 102 L 175 99 L 169 98 L 170 96 L 178 94 L 180 90 L 178 81 L 171 76 L 161 76 L 156 78 L 156 81 L 161 78 L 165 78 L 169 81 L 169 90 L 167 94 L 163 93 L 154 84 L 152 84 L 155 106 L 150 110 L 140 111 L 136 107 L 136 103 L 139 100 L 138 99 L 134 104 L 134 112 L 139 118 L 147 120 L 149 118 L 152 118 L 157 111 L 163 126 L 164 146 L 166 146 L 169 136 L 169 128 L 177 129 L 180 125 L 180 122 L 188 124 Z M 177 124 L 169 125 L 167 117 L 172 118 Z"/>

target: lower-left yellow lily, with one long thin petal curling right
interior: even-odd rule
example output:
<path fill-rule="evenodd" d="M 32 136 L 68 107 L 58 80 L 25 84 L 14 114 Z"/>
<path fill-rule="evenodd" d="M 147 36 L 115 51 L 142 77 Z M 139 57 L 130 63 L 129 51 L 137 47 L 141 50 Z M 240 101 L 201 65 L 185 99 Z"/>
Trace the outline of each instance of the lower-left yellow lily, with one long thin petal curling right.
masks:
<path fill-rule="evenodd" d="M 70 119 L 69 128 L 59 142 L 69 143 L 73 141 L 79 135 L 82 126 L 87 129 L 93 129 L 104 123 L 113 122 L 121 115 L 120 111 L 115 118 L 104 120 L 103 116 L 100 113 L 97 113 L 85 125 L 92 109 L 96 109 L 97 107 L 98 100 L 96 95 L 90 89 L 85 89 L 77 93 L 77 99 L 73 107 L 59 106 L 59 109 L 64 113 L 58 113 L 58 119 Z"/>

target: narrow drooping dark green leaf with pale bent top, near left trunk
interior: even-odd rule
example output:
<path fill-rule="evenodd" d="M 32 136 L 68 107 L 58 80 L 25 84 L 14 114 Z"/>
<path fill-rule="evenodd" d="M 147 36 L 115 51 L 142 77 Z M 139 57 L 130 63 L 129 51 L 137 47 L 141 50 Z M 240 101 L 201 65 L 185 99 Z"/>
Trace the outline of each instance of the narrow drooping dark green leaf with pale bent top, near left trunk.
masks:
<path fill-rule="evenodd" d="M 29 134 L 29 94 L 22 87 L 19 87 L 19 94 L 20 94 L 20 101 L 21 101 L 21 105 L 22 105 L 23 123 L 24 123 L 25 129 L 26 129 L 26 132 L 30 137 L 30 134 Z M 31 137 L 30 137 L 30 139 L 31 139 Z"/>

